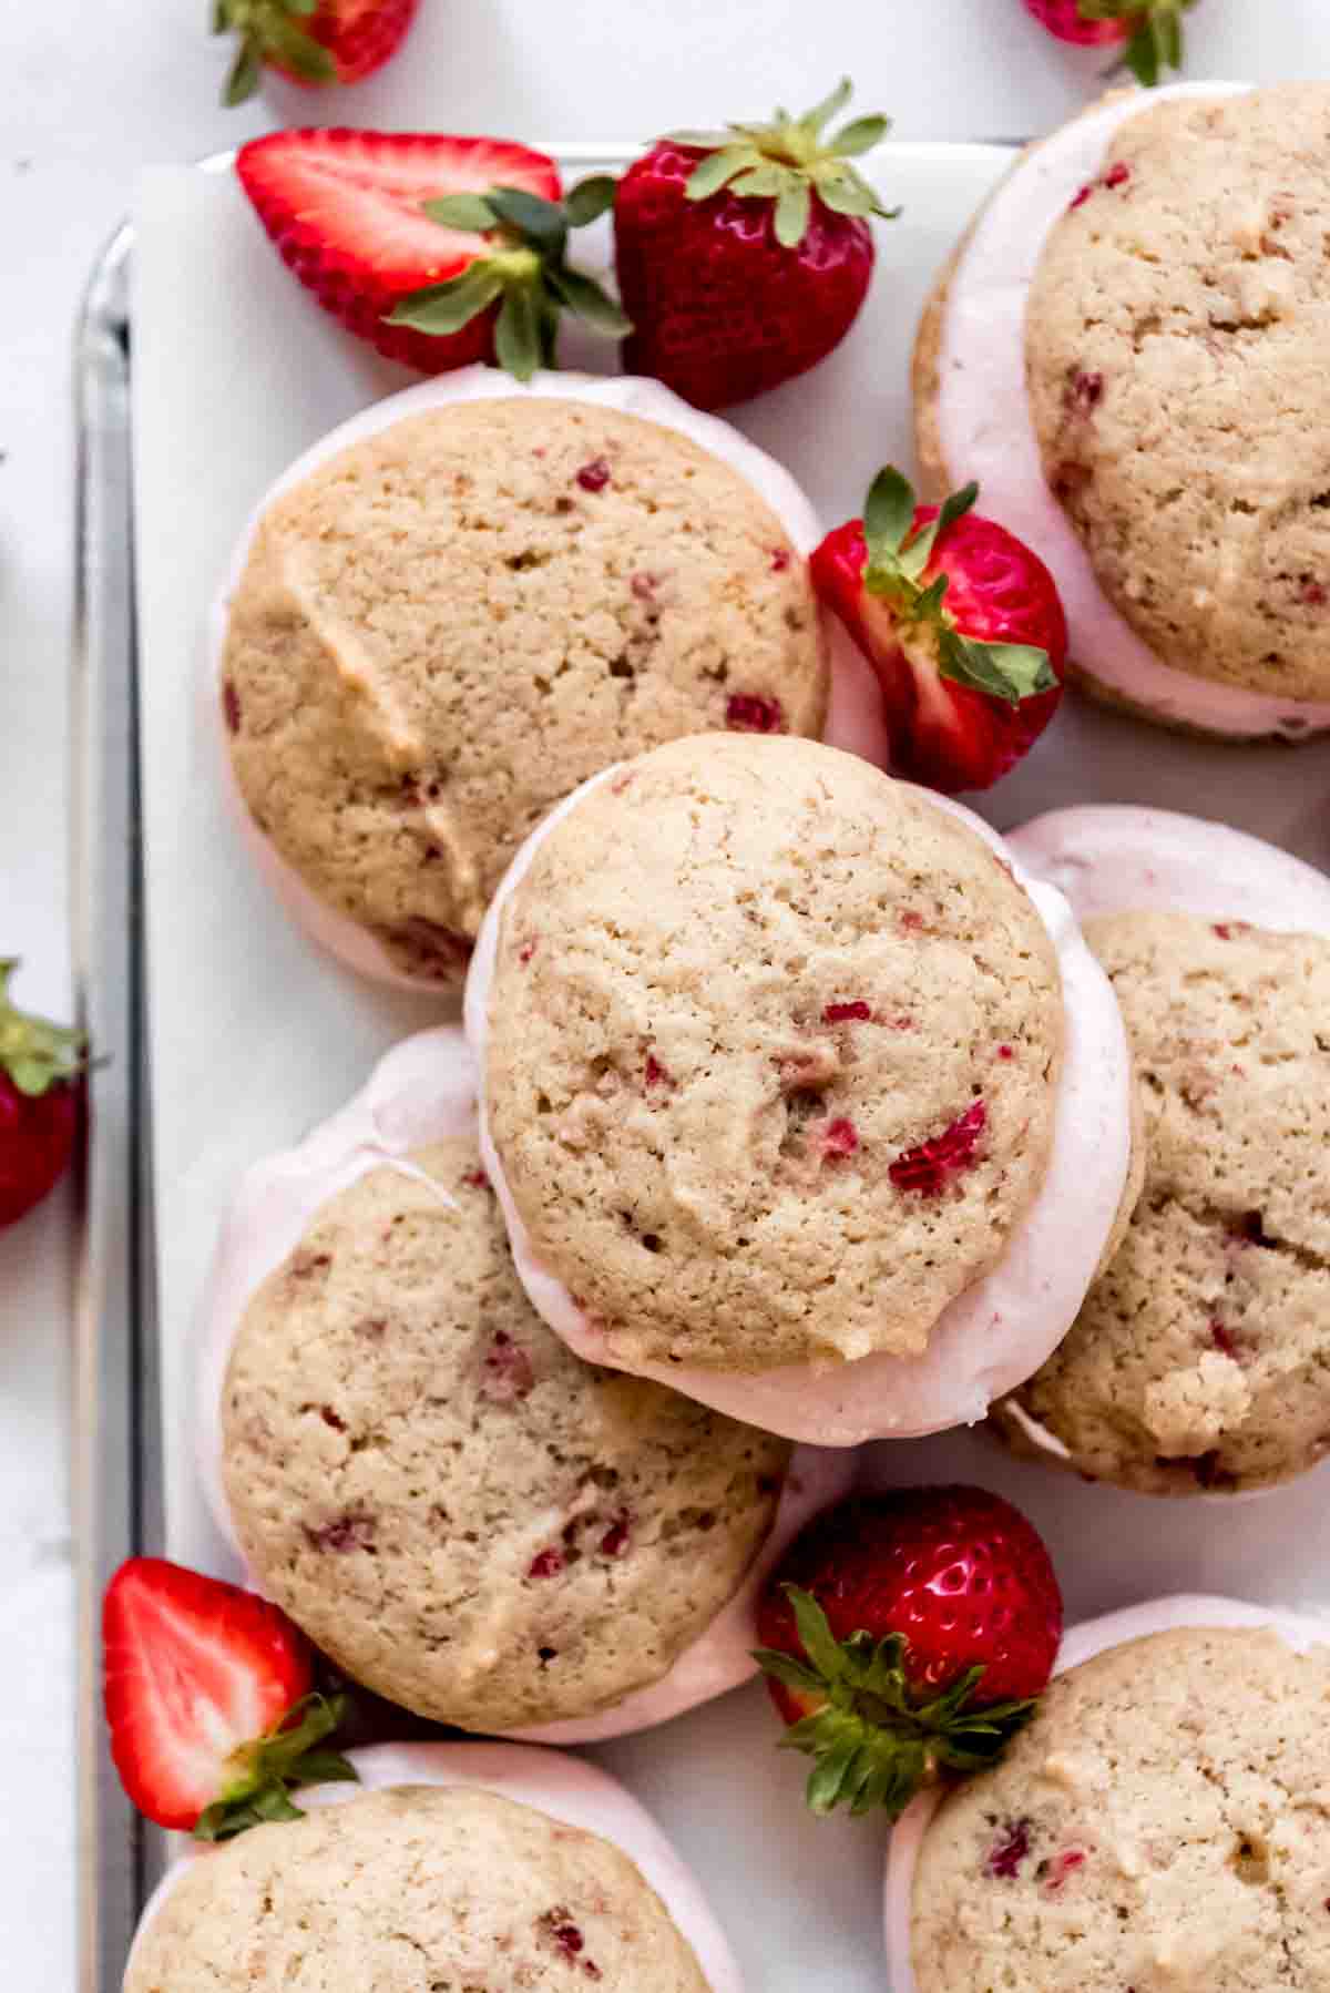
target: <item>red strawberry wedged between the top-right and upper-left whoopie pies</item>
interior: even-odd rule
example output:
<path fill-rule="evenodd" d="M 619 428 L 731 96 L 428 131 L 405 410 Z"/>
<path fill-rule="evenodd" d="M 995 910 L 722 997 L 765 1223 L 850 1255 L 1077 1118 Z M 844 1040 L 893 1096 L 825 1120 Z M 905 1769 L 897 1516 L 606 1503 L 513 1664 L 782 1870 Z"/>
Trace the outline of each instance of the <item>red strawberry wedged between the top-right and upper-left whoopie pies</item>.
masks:
<path fill-rule="evenodd" d="M 945 795 L 987 789 L 1063 696 L 1067 618 L 1053 576 L 973 510 L 977 484 L 917 506 L 881 470 L 863 518 L 812 556 L 814 588 L 877 672 L 891 763 Z"/>

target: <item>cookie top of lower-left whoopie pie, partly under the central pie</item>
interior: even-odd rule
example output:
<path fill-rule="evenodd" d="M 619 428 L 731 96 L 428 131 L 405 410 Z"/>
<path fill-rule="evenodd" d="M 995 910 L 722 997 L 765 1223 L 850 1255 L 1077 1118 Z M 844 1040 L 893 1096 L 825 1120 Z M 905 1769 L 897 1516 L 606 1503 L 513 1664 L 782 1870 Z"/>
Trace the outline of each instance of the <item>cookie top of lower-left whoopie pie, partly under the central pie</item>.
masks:
<path fill-rule="evenodd" d="M 259 1588 L 353 1680 L 465 1730 L 660 1680 L 738 1590 L 790 1459 L 564 1349 L 473 1138 L 325 1206 L 245 1309 L 221 1447 Z"/>

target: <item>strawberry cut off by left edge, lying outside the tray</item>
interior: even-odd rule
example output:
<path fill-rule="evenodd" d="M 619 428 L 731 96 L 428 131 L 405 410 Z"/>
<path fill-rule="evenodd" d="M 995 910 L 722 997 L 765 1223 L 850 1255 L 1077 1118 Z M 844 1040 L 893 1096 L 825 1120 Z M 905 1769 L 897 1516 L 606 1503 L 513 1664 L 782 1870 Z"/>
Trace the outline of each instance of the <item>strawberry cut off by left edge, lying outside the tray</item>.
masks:
<path fill-rule="evenodd" d="M 0 1228 L 64 1176 L 84 1120 L 84 1036 L 10 1002 L 16 961 L 0 961 Z"/>

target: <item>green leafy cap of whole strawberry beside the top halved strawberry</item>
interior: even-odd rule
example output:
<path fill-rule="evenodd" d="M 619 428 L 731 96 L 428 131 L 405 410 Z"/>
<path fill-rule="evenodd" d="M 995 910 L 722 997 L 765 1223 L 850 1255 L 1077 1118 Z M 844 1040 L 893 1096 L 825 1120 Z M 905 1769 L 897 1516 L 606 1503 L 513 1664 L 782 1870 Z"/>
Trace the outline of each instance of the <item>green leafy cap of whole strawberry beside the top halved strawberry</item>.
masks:
<path fill-rule="evenodd" d="M 899 207 L 883 207 L 853 159 L 871 151 L 891 130 L 881 116 L 853 118 L 839 132 L 826 132 L 851 98 L 841 78 L 830 98 L 802 118 L 778 110 L 770 124 L 732 124 L 724 132 L 676 132 L 678 145 L 698 145 L 706 157 L 688 179 L 688 199 L 706 201 L 728 187 L 744 199 L 776 201 L 776 241 L 798 249 L 814 217 L 814 193 L 837 215 L 879 215 L 895 221 Z"/>

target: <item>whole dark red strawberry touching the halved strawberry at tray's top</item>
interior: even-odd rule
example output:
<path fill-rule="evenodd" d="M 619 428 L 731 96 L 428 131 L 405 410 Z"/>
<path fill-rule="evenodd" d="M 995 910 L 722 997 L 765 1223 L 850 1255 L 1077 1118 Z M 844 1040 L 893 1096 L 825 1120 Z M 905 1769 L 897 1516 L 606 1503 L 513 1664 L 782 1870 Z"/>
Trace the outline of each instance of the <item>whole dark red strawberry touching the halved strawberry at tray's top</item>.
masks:
<path fill-rule="evenodd" d="M 887 130 L 826 134 L 843 82 L 806 118 L 664 138 L 614 201 L 624 367 L 698 409 L 724 409 L 816 367 L 855 321 L 873 275 L 869 215 L 891 215 L 851 163 Z"/>

